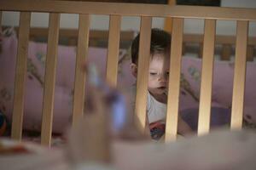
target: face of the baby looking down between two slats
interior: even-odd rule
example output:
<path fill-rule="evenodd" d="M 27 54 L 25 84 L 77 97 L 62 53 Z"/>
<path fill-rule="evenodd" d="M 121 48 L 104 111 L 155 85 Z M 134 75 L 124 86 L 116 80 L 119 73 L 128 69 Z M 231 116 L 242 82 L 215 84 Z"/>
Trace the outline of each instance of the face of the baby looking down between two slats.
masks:
<path fill-rule="evenodd" d="M 170 59 L 165 54 L 154 54 L 149 64 L 148 91 L 154 97 L 166 95 Z"/>

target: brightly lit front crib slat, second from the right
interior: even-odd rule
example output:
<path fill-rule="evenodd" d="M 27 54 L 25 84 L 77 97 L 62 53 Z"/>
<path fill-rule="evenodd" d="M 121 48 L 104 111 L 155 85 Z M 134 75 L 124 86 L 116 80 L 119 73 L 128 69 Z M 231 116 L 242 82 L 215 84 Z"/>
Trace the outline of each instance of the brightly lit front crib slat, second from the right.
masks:
<path fill-rule="evenodd" d="M 201 69 L 201 93 L 197 131 L 199 135 L 209 133 L 210 129 L 215 30 L 216 20 L 205 20 L 203 59 Z"/>

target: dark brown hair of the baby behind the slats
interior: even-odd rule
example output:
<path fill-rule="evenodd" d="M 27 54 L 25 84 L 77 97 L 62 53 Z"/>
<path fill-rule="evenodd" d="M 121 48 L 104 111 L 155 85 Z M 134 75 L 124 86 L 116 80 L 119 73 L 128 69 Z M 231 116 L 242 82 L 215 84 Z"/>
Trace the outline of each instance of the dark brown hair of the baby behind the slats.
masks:
<path fill-rule="evenodd" d="M 131 62 L 137 64 L 140 34 L 131 42 Z M 170 54 L 171 35 L 158 28 L 151 30 L 150 54 Z"/>

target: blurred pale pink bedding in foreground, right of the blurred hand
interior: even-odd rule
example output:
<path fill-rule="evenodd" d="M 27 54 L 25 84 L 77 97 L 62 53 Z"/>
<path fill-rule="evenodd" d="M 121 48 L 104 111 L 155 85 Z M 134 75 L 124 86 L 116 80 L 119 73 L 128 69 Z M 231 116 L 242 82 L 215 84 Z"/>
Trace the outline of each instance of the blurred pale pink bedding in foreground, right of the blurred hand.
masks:
<path fill-rule="evenodd" d="M 255 170 L 256 133 L 218 129 L 167 144 L 115 143 L 117 169 Z"/>

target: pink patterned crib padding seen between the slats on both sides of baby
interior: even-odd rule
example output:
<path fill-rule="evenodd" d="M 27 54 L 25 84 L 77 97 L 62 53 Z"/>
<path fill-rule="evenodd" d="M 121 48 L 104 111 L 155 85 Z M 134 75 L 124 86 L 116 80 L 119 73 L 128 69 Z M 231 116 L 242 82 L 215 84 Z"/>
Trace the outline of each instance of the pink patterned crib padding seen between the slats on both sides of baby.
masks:
<path fill-rule="evenodd" d="M 3 37 L 2 53 L 0 54 L 0 108 L 9 117 L 12 116 L 13 89 L 15 81 L 15 59 L 17 39 L 15 35 Z M 43 102 L 44 62 L 46 44 L 29 42 L 24 128 L 40 130 Z M 75 47 L 59 46 L 58 64 L 55 82 L 55 107 L 53 132 L 62 133 L 71 121 L 73 105 L 73 79 L 75 69 Z M 131 87 L 135 79 L 130 72 L 130 59 L 125 50 L 119 54 L 119 86 Z M 89 62 L 100 68 L 102 75 L 106 69 L 106 48 L 89 48 Z M 215 61 L 214 79 L 212 84 L 212 106 L 230 108 L 232 97 L 234 64 L 229 61 Z M 198 108 L 201 59 L 183 58 L 182 89 L 180 94 L 180 111 Z M 256 63 L 247 63 L 247 82 L 244 105 L 244 118 L 256 124 Z"/>

